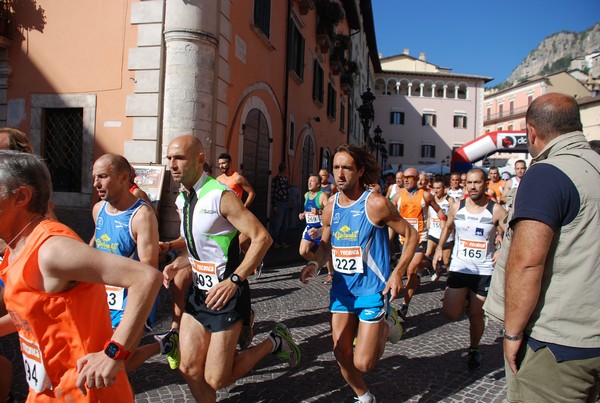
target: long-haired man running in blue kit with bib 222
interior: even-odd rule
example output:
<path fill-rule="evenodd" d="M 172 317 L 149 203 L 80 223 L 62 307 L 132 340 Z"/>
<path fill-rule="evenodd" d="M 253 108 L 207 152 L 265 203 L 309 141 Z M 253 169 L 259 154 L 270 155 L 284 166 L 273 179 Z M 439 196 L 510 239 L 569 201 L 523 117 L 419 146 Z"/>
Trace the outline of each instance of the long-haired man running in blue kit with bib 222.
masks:
<path fill-rule="evenodd" d="M 402 276 L 415 251 L 417 234 L 388 199 L 368 190 L 377 182 L 379 168 L 365 149 L 339 146 L 333 157 L 333 173 L 338 193 L 323 210 L 323 235 L 316 259 L 302 269 L 300 281 L 306 283 L 330 256 L 333 258 L 329 307 L 335 357 L 358 401 L 375 402 L 364 374 L 375 367 L 386 340 L 396 343 L 402 337 L 402 324 L 389 301 L 402 290 Z M 393 271 L 387 226 L 406 237 L 405 254 Z"/>

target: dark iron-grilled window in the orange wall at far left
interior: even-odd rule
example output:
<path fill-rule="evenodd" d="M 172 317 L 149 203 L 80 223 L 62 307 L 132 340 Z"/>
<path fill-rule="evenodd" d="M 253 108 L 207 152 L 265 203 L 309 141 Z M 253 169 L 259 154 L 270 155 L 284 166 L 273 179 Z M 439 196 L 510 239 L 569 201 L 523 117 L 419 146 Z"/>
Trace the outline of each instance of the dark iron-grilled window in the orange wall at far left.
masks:
<path fill-rule="evenodd" d="M 81 192 L 83 108 L 43 111 L 43 156 L 55 192 Z"/>

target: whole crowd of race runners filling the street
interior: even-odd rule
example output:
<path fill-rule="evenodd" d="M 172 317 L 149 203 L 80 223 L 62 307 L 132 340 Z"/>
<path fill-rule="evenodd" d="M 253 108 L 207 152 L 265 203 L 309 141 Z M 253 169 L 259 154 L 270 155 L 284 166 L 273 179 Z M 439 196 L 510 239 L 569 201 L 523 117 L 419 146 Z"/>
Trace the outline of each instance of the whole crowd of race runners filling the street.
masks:
<path fill-rule="evenodd" d="M 280 210 L 289 197 L 285 163 L 272 185 L 278 217 L 269 233 L 248 210 L 255 192 L 231 156 L 218 156 L 221 174 L 213 177 L 200 140 L 175 138 L 167 160 L 181 189 L 181 236 L 159 241 L 157 210 L 131 165 L 103 155 L 93 165 L 99 201 L 86 245 L 55 219 L 50 175 L 27 136 L 0 129 L 0 149 L 0 336 L 18 332 L 30 399 L 132 401 L 127 372 L 156 354 L 203 402 L 269 354 L 301 363 L 299 340 L 283 323 L 254 340 L 248 282 L 260 277 L 269 248 L 289 247 Z M 376 401 L 364 375 L 387 342 L 402 339 L 425 273 L 445 279 L 442 313 L 466 315 L 464 365 L 481 367 L 484 303 L 526 162 L 514 170 L 503 180 L 496 167 L 449 175 L 406 167 L 386 181 L 370 152 L 343 144 L 331 173 L 309 176 L 298 216 L 306 225 L 298 253 L 308 263 L 299 277 L 307 283 L 327 270 L 334 355 L 356 401 Z M 171 329 L 140 346 L 161 283 L 172 290 Z M 4 401 L 12 371 L 3 357 L 0 370 Z"/>

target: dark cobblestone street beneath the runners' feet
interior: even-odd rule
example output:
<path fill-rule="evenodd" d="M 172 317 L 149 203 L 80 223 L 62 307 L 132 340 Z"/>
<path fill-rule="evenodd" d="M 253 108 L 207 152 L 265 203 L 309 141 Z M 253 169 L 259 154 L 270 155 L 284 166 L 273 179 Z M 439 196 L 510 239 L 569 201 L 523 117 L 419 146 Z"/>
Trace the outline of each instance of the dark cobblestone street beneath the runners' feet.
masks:
<path fill-rule="evenodd" d="M 298 272 L 297 264 L 267 268 L 260 279 L 251 279 L 251 284 L 257 313 L 256 340 L 262 340 L 276 322 L 282 321 L 300 340 L 303 363 L 290 370 L 286 364 L 268 357 L 235 385 L 220 390 L 219 401 L 352 401 L 353 393 L 340 375 L 332 353 L 326 309 L 328 286 L 322 284 L 323 276 L 302 285 Z M 443 284 L 424 278 L 410 307 L 405 338 L 394 346 L 388 344 L 377 367 L 367 375 L 370 390 L 379 401 L 502 401 L 506 383 L 500 326 L 490 321 L 481 345 L 483 367 L 468 371 L 468 321 L 463 318 L 448 322 L 441 316 Z M 161 295 L 163 304 L 155 333 L 166 331 L 169 323 L 169 294 L 162 291 Z M 1 338 L 0 350 L 19 362 L 14 336 Z M 22 366 L 16 372 L 13 389 L 22 401 L 26 393 Z M 130 379 L 138 402 L 193 401 L 185 381 L 177 371 L 169 369 L 163 357 L 154 357 L 133 372 Z"/>

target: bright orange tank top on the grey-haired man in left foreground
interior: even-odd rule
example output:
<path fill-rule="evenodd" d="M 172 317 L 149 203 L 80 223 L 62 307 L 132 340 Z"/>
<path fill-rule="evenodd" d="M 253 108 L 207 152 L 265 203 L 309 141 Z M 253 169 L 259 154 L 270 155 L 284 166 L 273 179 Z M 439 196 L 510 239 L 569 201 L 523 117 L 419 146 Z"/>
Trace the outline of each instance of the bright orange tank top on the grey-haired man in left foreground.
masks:
<path fill-rule="evenodd" d="M 81 241 L 66 225 L 45 220 L 34 228 L 18 256 L 11 259 L 7 249 L 0 264 L 6 308 L 19 333 L 29 384 L 27 401 L 133 402 L 125 371 L 117 373 L 113 386 L 88 389 L 86 397 L 75 385 L 77 360 L 101 351 L 112 337 L 112 328 L 104 285 L 79 283 L 61 293 L 29 285 L 37 283 L 32 279 L 40 275 L 39 248 L 53 236 Z"/>

